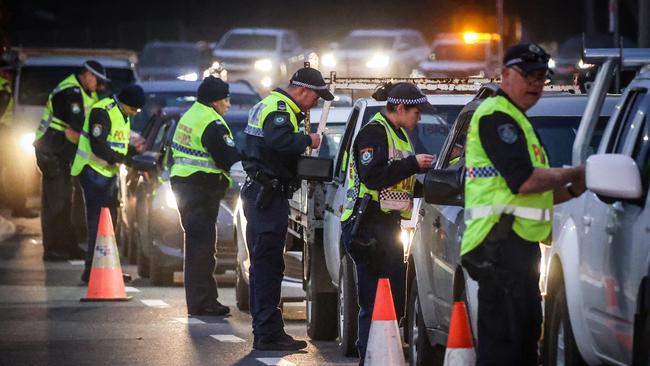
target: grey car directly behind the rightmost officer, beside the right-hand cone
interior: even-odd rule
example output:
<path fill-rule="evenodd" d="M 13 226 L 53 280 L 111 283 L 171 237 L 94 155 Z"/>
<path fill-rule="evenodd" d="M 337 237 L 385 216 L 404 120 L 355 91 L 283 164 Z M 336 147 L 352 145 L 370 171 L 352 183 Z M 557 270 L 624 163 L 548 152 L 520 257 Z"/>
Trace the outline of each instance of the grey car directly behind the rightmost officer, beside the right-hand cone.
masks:
<path fill-rule="evenodd" d="M 460 113 L 444 143 L 435 168 L 424 179 L 425 203 L 408 247 L 405 336 L 411 365 L 440 361 L 447 344 L 451 310 L 455 301 L 467 304 L 476 335 L 478 284 L 460 265 L 465 228 L 463 179 L 465 139 L 479 104 L 497 90 L 485 87 Z M 617 96 L 608 96 L 599 118 L 597 135 L 613 112 Z M 526 112 L 548 154 L 551 167 L 571 164 L 571 146 L 587 104 L 586 95 L 548 93 Z M 542 250 L 543 253 L 547 251 Z M 542 263 L 547 255 L 543 255 Z M 542 266 L 543 268 L 543 266 Z M 540 282 L 544 281 L 542 271 Z"/>

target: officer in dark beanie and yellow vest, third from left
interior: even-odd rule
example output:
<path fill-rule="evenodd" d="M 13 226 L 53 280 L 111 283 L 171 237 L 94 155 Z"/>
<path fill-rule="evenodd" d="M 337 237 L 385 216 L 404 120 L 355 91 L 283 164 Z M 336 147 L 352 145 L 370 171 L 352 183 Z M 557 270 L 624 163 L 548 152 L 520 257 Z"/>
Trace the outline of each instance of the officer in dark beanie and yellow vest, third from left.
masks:
<path fill-rule="evenodd" d="M 223 115 L 228 84 L 208 76 L 198 100 L 181 117 L 172 141 L 171 185 L 185 231 L 185 299 L 190 315 L 226 315 L 214 279 L 215 224 L 219 202 L 231 184 L 230 167 L 241 160 Z"/>

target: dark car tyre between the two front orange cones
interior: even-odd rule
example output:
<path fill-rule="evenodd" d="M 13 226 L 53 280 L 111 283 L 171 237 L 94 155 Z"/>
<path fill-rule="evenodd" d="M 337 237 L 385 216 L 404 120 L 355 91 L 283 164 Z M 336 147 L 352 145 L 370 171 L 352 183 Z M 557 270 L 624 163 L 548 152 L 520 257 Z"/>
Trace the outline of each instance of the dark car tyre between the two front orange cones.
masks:
<path fill-rule="evenodd" d="M 413 276 L 411 280 L 411 291 L 409 293 L 407 312 L 409 365 L 442 365 L 444 353 L 440 347 L 433 347 L 429 342 L 427 329 L 422 317 L 422 307 L 420 306 L 420 297 L 418 296 L 417 278 Z"/>

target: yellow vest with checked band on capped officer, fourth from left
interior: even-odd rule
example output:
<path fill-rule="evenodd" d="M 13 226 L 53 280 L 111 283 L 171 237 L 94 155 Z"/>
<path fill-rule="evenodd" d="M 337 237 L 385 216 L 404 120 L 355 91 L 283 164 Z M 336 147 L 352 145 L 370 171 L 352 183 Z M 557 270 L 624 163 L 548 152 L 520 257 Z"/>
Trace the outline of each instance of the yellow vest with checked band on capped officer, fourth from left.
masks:
<path fill-rule="evenodd" d="M 276 91 L 272 91 L 248 112 L 248 124 L 244 132 L 248 135 L 264 137 L 264 120 L 273 112 L 287 112 L 293 132 L 299 132 L 296 114 L 300 113 L 300 107 L 291 98 Z"/>

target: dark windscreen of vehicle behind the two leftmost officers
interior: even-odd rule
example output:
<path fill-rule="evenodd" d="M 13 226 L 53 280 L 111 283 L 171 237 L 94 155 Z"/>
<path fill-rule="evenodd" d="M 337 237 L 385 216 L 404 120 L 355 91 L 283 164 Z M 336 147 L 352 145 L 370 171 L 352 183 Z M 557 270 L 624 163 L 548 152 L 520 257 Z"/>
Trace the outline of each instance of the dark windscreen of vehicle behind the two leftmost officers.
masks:
<path fill-rule="evenodd" d="M 44 106 L 48 95 L 66 77 L 79 72 L 74 66 L 24 66 L 20 69 L 18 103 L 23 105 Z M 122 90 L 135 80 L 133 70 L 128 68 L 107 68 L 112 89 Z M 101 93 L 101 97 L 111 95 L 110 90 Z"/>

